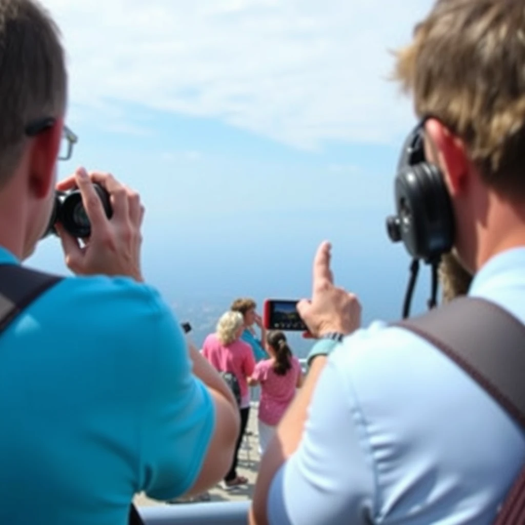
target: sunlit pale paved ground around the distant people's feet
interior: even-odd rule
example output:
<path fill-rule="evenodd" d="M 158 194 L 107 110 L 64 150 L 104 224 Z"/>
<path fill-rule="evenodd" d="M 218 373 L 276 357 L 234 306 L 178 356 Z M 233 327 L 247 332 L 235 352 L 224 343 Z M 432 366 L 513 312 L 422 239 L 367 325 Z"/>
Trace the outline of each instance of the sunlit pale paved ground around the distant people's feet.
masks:
<path fill-rule="evenodd" d="M 257 434 L 256 405 L 250 410 L 247 432 L 248 435 L 245 436 L 244 442 L 240 446 L 238 474 L 248 478 L 248 484 L 225 490 L 221 482 L 209 491 L 210 501 L 242 501 L 251 499 L 257 471 L 259 469 L 259 436 Z M 186 501 L 178 499 L 177 502 L 182 503 Z M 149 499 L 144 495 L 137 496 L 137 498 L 135 498 L 135 504 L 139 506 L 166 505 L 166 503 Z"/>

